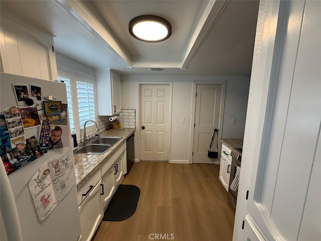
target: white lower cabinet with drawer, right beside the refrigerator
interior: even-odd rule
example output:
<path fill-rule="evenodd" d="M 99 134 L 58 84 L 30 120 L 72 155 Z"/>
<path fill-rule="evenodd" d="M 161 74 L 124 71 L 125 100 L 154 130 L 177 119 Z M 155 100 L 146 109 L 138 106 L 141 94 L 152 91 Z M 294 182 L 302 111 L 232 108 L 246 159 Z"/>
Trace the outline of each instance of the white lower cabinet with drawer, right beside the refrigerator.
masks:
<path fill-rule="evenodd" d="M 82 241 L 91 240 L 103 217 L 100 180 L 100 170 L 98 170 L 78 190 Z"/>

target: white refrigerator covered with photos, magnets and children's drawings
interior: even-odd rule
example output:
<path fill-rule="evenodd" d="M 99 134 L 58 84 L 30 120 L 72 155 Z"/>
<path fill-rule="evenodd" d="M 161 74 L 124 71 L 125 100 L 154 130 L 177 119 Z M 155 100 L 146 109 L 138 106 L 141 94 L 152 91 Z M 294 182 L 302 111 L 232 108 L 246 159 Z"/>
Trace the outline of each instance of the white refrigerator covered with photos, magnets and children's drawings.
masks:
<path fill-rule="evenodd" d="M 23 96 L 23 91 L 25 96 Z M 79 240 L 81 233 L 80 218 L 78 212 L 74 160 L 72 155 L 72 141 L 66 115 L 68 114 L 68 111 L 66 109 L 65 112 L 62 111 L 62 116 L 57 114 L 61 110 L 61 106 L 59 106 L 60 102 L 66 108 L 67 94 L 65 84 L 57 81 L 0 73 L 0 92 L 0 110 L 8 110 L 9 107 L 18 106 L 20 110 L 24 110 L 24 108 L 26 108 L 26 110 L 34 109 L 35 111 L 33 114 L 38 112 L 39 116 L 38 120 L 38 117 L 30 117 L 28 113 L 23 114 L 22 111 L 15 116 L 6 116 L 7 132 L 4 133 L 10 134 L 9 140 L 12 144 L 12 150 L 8 151 L 8 153 L 2 151 L 2 158 L 5 155 L 7 155 L 8 158 L 13 158 L 12 152 L 14 150 L 18 152 L 18 144 L 15 143 L 15 145 L 13 145 L 13 140 L 23 140 L 26 144 L 27 139 L 36 137 L 38 144 L 40 144 L 40 138 L 43 137 L 41 135 L 43 131 L 43 121 L 41 121 L 41 119 L 46 118 L 43 114 L 44 111 L 46 111 L 46 115 L 48 114 L 48 116 L 51 116 L 51 119 L 49 120 L 50 123 L 54 124 L 50 126 L 50 132 L 54 130 L 53 128 L 55 126 L 60 126 L 62 128 L 61 141 L 63 143 L 63 147 L 59 146 L 59 148 L 48 150 L 47 152 L 46 150 L 44 151 L 44 149 L 41 149 L 42 155 L 39 154 L 39 157 L 37 151 L 35 152 L 37 154 L 33 153 L 37 155 L 37 157 L 34 156 L 30 158 L 30 156 L 32 156 L 31 153 L 30 156 L 28 156 L 29 154 L 24 154 L 24 159 L 20 159 L 20 164 L 12 164 L 10 170 L 14 170 L 14 167 L 16 170 L 9 175 L 7 175 L 8 167 L 5 168 L 6 165 L 4 165 L 5 157 L 2 159 L 2 162 L 0 163 L 0 240 Z M 47 106 L 47 109 L 44 109 L 43 101 L 46 101 L 46 104 L 49 106 Z M 6 111 L 3 113 L 6 114 Z M 37 123 L 35 124 L 35 122 L 39 121 L 41 122 L 40 125 L 37 125 Z M 14 122 L 15 124 L 13 124 Z M 18 130 L 17 128 L 13 128 L 13 125 L 17 125 L 17 123 L 17 128 L 19 128 L 19 125 L 23 125 L 18 132 L 20 133 L 19 135 L 23 135 L 19 137 L 15 137 L 17 133 L 11 131 Z M 48 138 L 48 134 L 45 134 L 45 136 Z M 42 143 L 45 142 L 42 141 Z M 2 143 L 2 148 L 4 148 L 2 150 L 5 150 L 5 148 L 7 148 L 7 150 L 10 149 L 10 147 L 4 147 L 4 145 L 6 145 L 5 142 Z M 59 170 L 57 169 L 58 166 L 54 169 L 53 161 L 59 160 L 59 158 L 62 157 L 68 157 L 68 166 L 59 165 Z M 25 161 L 25 159 L 29 161 Z M 51 166 L 49 164 L 51 164 Z M 41 169 L 46 167 L 46 165 L 48 165 L 46 170 L 49 170 L 48 172 L 51 171 L 49 175 L 48 173 L 45 174 L 45 171 Z M 68 170 L 68 172 L 59 172 L 62 169 Z M 38 175 L 38 180 L 44 180 L 42 183 L 43 186 L 40 186 L 38 185 L 39 183 L 37 183 L 37 171 L 41 172 L 40 177 Z M 48 176 L 45 176 L 44 174 Z M 55 179 L 54 176 L 51 175 L 56 175 L 57 178 Z M 57 183 L 59 182 L 61 186 L 60 188 L 56 188 Z M 64 184 L 64 186 L 62 186 L 62 184 Z M 43 195 L 46 202 L 42 199 L 42 203 L 38 205 L 36 202 L 38 196 L 35 192 L 39 189 L 38 195 L 42 191 L 45 193 L 45 191 L 49 190 L 47 189 L 48 186 L 51 188 L 51 194 Z M 46 208 L 48 210 L 45 210 Z"/>

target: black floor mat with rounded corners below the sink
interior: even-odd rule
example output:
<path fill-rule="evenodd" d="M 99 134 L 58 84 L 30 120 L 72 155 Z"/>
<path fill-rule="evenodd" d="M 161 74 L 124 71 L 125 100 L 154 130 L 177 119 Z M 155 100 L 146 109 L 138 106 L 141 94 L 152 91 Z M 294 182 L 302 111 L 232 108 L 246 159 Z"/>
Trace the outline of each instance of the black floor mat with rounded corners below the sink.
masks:
<path fill-rule="evenodd" d="M 134 185 L 119 184 L 104 213 L 103 221 L 121 221 L 134 214 L 140 190 Z"/>

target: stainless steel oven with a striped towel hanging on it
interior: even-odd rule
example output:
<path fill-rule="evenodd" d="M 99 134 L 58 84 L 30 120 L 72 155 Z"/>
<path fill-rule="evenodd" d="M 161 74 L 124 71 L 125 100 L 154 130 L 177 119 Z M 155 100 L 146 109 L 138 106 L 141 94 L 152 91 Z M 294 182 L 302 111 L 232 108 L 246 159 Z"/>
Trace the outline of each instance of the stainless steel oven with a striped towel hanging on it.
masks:
<path fill-rule="evenodd" d="M 232 149 L 231 157 L 232 157 L 232 164 L 231 164 L 231 173 L 230 173 L 230 182 L 229 182 L 228 201 L 231 204 L 232 208 L 235 210 L 236 200 L 237 200 L 237 191 L 238 191 L 239 172 L 240 172 L 241 160 L 242 160 L 242 149 L 239 149 L 239 150 Z"/>

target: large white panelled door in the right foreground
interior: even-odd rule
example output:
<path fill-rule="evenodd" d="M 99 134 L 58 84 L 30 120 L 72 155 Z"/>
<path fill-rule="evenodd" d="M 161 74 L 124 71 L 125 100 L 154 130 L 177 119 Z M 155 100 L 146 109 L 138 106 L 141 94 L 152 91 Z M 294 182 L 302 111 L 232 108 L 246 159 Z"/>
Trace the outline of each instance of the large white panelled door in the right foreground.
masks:
<path fill-rule="evenodd" d="M 273 1 L 267 7 L 275 10 L 272 16 L 278 27 L 271 46 L 275 52 L 265 119 L 259 119 L 264 121 L 262 137 L 256 139 L 260 141 L 253 145 L 255 156 L 249 160 L 253 169 L 247 216 L 266 240 L 320 240 L 321 2 Z M 267 61 L 263 64 L 268 66 Z M 253 92 L 249 97 L 258 96 Z M 251 108 L 248 111 L 253 113 Z M 249 117 L 246 125 L 253 125 Z M 255 140 L 245 141 L 247 159 L 248 144 Z M 239 197 L 238 201 L 244 200 Z M 240 222 L 236 219 L 236 223 Z"/>

